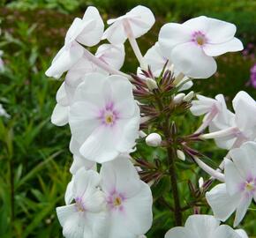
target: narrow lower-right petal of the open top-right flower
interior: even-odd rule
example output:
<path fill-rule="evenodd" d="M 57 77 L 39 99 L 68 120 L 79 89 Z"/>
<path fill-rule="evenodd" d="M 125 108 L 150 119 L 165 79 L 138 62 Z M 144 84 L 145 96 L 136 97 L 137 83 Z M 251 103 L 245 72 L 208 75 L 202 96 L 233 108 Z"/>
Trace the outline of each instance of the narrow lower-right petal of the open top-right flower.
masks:
<path fill-rule="evenodd" d="M 221 44 L 206 44 L 203 50 L 207 56 L 221 56 L 224 53 L 240 51 L 243 48 L 242 42 L 237 38 L 233 38 Z"/>

